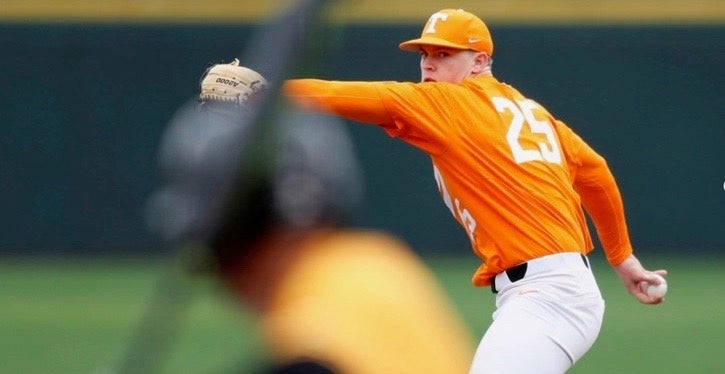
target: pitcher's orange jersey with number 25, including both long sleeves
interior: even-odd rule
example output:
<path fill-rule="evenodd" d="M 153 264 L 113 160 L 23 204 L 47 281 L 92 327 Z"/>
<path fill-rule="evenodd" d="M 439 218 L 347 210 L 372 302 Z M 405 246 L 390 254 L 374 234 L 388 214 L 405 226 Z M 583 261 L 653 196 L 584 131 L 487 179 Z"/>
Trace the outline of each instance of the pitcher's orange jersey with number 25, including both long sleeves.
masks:
<path fill-rule="evenodd" d="M 426 152 L 443 200 L 483 263 L 477 286 L 512 266 L 593 245 L 631 254 L 619 190 L 606 162 L 563 122 L 492 76 L 460 84 L 289 80 L 303 107 L 377 124 Z"/>

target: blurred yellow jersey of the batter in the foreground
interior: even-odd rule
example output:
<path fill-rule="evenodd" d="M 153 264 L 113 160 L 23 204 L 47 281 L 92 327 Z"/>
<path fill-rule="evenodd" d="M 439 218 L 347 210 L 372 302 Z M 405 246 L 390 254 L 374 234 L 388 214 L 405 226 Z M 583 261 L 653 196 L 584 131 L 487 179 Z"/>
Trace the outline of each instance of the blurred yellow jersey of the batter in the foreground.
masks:
<path fill-rule="evenodd" d="M 329 230 L 297 244 L 260 320 L 275 362 L 306 358 L 348 374 L 468 372 L 473 338 L 404 243 Z"/>

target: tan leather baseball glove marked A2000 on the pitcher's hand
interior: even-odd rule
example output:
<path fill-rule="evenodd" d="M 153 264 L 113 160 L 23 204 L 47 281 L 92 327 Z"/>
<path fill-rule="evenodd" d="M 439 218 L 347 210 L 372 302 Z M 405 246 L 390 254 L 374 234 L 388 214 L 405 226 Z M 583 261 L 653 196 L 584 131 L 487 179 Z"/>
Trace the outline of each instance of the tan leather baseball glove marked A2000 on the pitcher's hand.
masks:
<path fill-rule="evenodd" d="M 250 97 L 267 87 L 267 80 L 256 71 L 239 66 L 234 59 L 229 64 L 217 64 L 201 78 L 199 101 L 220 101 L 244 104 Z"/>

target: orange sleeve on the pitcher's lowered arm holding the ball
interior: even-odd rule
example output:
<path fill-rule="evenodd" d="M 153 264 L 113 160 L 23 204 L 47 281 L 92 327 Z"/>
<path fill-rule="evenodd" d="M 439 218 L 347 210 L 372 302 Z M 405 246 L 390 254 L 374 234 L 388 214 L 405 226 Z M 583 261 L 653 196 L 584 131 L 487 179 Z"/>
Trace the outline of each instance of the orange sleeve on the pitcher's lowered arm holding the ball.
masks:
<path fill-rule="evenodd" d="M 632 244 L 616 180 L 602 156 L 566 125 L 557 122 L 574 189 L 594 222 L 607 261 L 619 265 L 632 254 Z"/>

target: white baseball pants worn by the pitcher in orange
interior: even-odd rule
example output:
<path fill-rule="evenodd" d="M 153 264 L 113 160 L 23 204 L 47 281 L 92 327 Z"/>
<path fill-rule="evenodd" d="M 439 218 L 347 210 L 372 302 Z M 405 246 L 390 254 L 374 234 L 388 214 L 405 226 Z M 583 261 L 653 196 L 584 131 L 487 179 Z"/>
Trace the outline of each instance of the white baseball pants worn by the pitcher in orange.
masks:
<path fill-rule="evenodd" d="M 496 311 L 471 374 L 564 373 L 599 334 L 604 300 L 579 253 L 531 260 L 522 279 L 495 279 Z"/>

